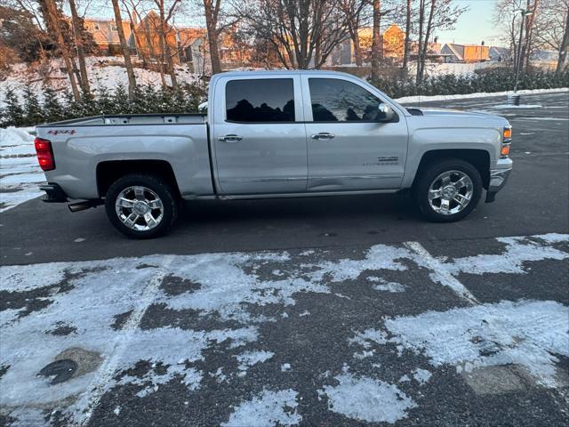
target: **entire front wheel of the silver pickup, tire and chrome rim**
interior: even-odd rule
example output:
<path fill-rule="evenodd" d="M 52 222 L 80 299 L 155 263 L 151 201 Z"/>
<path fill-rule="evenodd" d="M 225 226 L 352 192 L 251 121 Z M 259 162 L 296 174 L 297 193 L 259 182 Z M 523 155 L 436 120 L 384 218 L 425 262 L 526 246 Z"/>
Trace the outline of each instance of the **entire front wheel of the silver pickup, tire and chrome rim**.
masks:
<path fill-rule="evenodd" d="M 421 213 L 433 222 L 458 221 L 470 214 L 482 196 L 477 168 L 460 159 L 428 165 L 415 185 Z"/>

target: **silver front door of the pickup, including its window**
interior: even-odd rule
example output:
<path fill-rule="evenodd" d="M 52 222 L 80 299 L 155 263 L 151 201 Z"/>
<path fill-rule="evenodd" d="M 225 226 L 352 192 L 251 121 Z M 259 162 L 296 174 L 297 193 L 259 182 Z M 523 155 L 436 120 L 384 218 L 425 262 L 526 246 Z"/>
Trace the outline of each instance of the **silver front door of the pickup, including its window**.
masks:
<path fill-rule="evenodd" d="M 302 85 L 309 191 L 397 189 L 408 140 L 401 111 L 397 122 L 377 122 L 385 100 L 356 78 L 304 75 Z"/>

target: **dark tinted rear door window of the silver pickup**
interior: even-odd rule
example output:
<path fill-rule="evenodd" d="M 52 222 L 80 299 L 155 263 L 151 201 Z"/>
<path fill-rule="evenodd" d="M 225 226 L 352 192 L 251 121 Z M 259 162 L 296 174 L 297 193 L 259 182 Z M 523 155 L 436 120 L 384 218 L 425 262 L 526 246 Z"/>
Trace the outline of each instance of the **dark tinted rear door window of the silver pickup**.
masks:
<path fill-rule="evenodd" d="M 292 78 L 231 80 L 225 86 L 227 120 L 244 123 L 294 121 Z"/>

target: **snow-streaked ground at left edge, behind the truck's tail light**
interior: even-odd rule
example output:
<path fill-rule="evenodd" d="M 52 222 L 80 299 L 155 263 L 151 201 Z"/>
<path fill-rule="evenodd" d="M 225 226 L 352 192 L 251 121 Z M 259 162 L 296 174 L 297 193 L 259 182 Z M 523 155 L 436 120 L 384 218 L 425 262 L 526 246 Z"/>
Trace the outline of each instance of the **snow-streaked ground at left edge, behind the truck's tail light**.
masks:
<path fill-rule="evenodd" d="M 30 128 L 0 128 L 0 213 L 44 194 Z"/>

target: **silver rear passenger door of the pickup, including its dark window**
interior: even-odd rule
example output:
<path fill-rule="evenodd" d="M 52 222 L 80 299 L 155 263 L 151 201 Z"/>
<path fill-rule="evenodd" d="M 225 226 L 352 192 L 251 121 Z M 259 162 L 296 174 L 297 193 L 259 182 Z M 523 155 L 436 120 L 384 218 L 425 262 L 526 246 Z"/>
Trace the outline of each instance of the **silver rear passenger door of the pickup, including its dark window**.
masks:
<path fill-rule="evenodd" d="M 306 191 L 299 75 L 220 77 L 214 91 L 211 138 L 220 193 Z"/>

